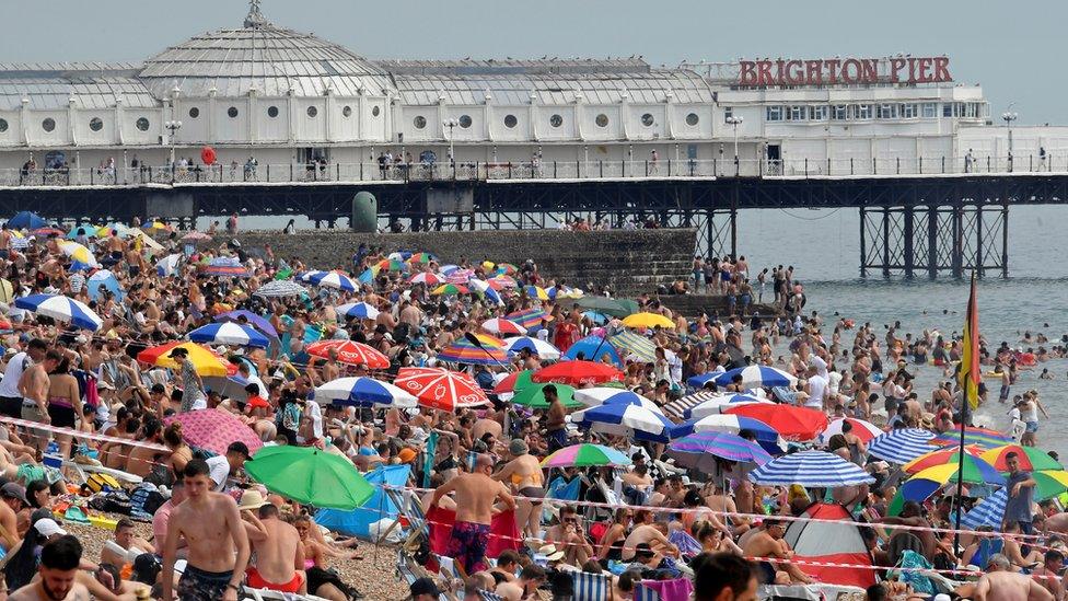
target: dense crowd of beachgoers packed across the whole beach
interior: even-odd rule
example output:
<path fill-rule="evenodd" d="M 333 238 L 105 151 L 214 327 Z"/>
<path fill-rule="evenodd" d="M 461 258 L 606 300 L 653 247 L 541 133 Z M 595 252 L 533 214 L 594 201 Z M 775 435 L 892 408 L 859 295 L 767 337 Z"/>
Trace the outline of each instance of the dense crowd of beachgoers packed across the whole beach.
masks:
<path fill-rule="evenodd" d="M 871 567 L 857 569 L 878 581 L 861 591 L 868 599 L 1064 598 L 1068 513 L 1056 495 L 1036 495 L 1032 470 L 1038 462 L 1033 453 L 1042 453 L 1034 446 L 1045 407 L 1033 390 L 1012 395 L 1021 370 L 1043 360 L 1035 356 L 1042 354 L 983 346 L 984 363 L 1005 374 L 998 401 L 1011 400 L 1015 411 L 999 439 L 1014 444 L 1001 470 L 1003 517 L 989 524 L 1007 535 L 962 534 L 956 513 L 990 496 L 989 483 L 938 486 L 895 504 L 909 474 L 868 448 L 875 436 L 899 430 L 960 432 L 963 393 L 953 371 L 960 340 L 933 331 L 902 335 L 899 325 L 879 336 L 871 324 L 846 319 L 828 328 L 819 314 L 801 312 L 804 293 L 792 267 L 761 270 L 754 289 L 755 268 L 744 257 L 695 259 L 695 282 L 710 293 L 736 296 L 732 309 L 762 302 L 767 285 L 779 313 L 687 319 L 650 294 L 622 312 L 606 309 L 617 299 L 588 302 L 581 291 L 541 274 L 533 261 L 514 266 L 458 258 L 445 265 L 418 249 L 361 246 L 351 274 L 316 273 L 312 268 L 322 266 L 252 252 L 230 235 L 221 244 L 212 241 L 221 233 L 214 228 L 194 242 L 166 228 L 136 226 L 82 227 L 70 234 L 0 230 L 0 284 L 7 287 L 0 287 L 7 297 L 0 324 L 0 560 L 11 599 L 84 599 L 90 592 L 103 599 L 237 599 L 243 586 L 360 598 L 361 582 L 345 582 L 329 569 L 332 559 L 353 556 L 352 543 L 324 533 L 310 518 L 314 507 L 249 478 L 246 462 L 255 453 L 245 442 L 206 453 L 187 439 L 175 417 L 206 409 L 232 415 L 267 447 L 317 448 L 363 473 L 407 465 L 406 486 L 419 496 L 430 530 L 437 511 L 454 515 L 444 538 L 429 545 L 431 559 L 416 554 L 422 555 L 416 563 L 452 559 L 463 579 L 452 590 L 465 599 L 570 599 L 582 574 L 604 577 L 613 598 L 629 599 L 645 588 L 664 601 L 755 599 L 757 583 L 834 585 L 819 580 L 814 563 L 798 557 L 786 536 L 815 502 L 840 505 L 864 522 Z M 232 216 L 225 230 L 232 235 L 236 229 Z M 324 284 L 326 275 L 333 284 Z M 280 281 L 293 281 L 297 291 L 258 293 Z M 86 326 L 43 304 L 20 302 L 38 296 L 78 301 L 98 323 Z M 628 314 L 651 321 L 631 325 Z M 150 352 L 220 320 L 269 339 L 201 347 L 231 366 L 229 377 L 201 373 L 187 347 Z M 503 322 L 515 327 L 506 331 Z M 614 346 L 625 334 L 630 344 Z M 572 347 L 590 336 L 602 343 L 576 354 Z M 513 346 L 516 338 L 523 344 Z M 323 342 L 364 350 L 356 358 L 316 351 Z M 456 356 L 457 345 L 469 352 Z M 538 382 L 539 371 L 567 361 L 596 375 Z M 746 366 L 776 368 L 788 382 L 719 377 Z M 415 391 L 419 402 L 407 407 L 337 402 L 323 393 L 343 378 L 390 382 L 413 368 L 464 372 L 464 381 L 479 389 L 478 401 L 443 404 Z M 929 396 L 914 390 L 910 370 L 917 369 L 944 370 L 944 383 Z M 663 416 L 663 431 L 643 436 L 638 426 L 602 427 L 579 416 L 577 409 L 596 403 L 576 400 L 604 384 L 634 393 L 634 406 Z M 536 386 L 533 402 L 512 402 L 524 386 Z M 783 411 L 822 414 L 824 423 L 811 436 L 794 436 L 789 446 L 775 442 L 771 453 L 822 449 L 871 481 L 759 485 L 751 477 L 755 464 L 722 458 L 686 467 L 672 444 L 683 438 L 676 429 L 693 424 L 673 407 L 694 393 L 744 394 Z M 986 395 L 980 388 L 979 402 L 995 402 Z M 827 436 L 834 424 L 837 431 Z M 745 427 L 724 431 L 761 442 L 759 432 Z M 618 451 L 625 461 L 557 470 L 543 464 L 585 443 Z M 50 465 L 48 458 L 61 463 Z M 1047 459 L 1057 460 L 1055 453 Z M 58 510 L 80 484 L 67 460 L 156 486 L 160 505 L 141 516 L 152 521 L 151 540 L 119 521 L 101 557 L 83 557 Z M 510 516 L 503 531 L 495 523 L 499 515 Z M 906 565 L 906 557 L 915 564 Z M 455 585 L 450 580 L 416 578 L 413 599 L 438 599 Z"/>

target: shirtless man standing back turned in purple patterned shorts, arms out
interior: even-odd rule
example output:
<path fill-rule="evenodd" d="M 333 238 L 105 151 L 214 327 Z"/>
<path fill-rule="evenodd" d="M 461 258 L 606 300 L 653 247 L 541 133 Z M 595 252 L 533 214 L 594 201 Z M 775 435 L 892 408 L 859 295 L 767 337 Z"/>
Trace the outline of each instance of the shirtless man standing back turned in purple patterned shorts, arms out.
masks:
<path fill-rule="evenodd" d="M 506 509 L 515 509 L 515 499 L 503 484 L 491 477 L 492 473 L 494 458 L 479 454 L 475 459 L 474 472 L 442 484 L 430 498 L 430 506 L 433 507 L 441 497 L 449 493 L 456 494 L 456 522 L 445 555 L 463 566 L 465 574 L 487 569 L 486 545 L 489 544 L 489 524 L 494 519 L 495 504 L 501 501 Z"/>

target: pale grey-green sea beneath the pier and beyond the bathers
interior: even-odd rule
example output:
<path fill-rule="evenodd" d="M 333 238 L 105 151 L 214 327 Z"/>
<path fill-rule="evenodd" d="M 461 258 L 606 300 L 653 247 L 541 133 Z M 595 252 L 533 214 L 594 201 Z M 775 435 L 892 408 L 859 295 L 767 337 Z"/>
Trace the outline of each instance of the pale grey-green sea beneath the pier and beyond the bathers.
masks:
<path fill-rule="evenodd" d="M 208 226 L 201 219 L 198 227 Z M 298 220 L 299 228 L 311 227 Z M 278 218 L 242 218 L 243 228 L 281 229 Z M 338 223 L 345 226 L 345 220 Z M 384 226 L 384 223 L 383 223 Z M 1007 342 L 1017 347 L 1025 332 L 1043 333 L 1050 344 L 1068 335 L 1068 261 L 1060 238 L 1068 231 L 1068 209 L 1020 206 L 1009 211 L 1009 277 L 988 274 L 978 282 L 979 332 L 989 345 Z M 960 333 L 967 304 L 968 280 L 926 274 L 913 279 L 881 275 L 860 277 L 860 216 L 857 209 L 746 209 L 739 212 L 738 251 L 755 276 L 763 267 L 792 265 L 794 279 L 804 286 L 805 312 L 825 317 L 829 335 L 837 316 L 858 324 L 871 322 L 877 332 L 901 322 L 899 336 L 937 328 Z M 880 339 L 882 337 L 880 336 Z M 1035 346 L 1035 345 L 1032 345 Z M 1053 380 L 1037 378 L 1042 369 Z M 939 368 L 912 366 L 915 390 L 927 400 L 942 380 Z M 995 383 L 995 381 L 990 381 Z M 1035 389 L 1050 417 L 1042 421 L 1038 446 L 1068 458 L 1068 359 L 1053 359 L 1034 371 L 1021 371 L 1013 394 Z M 976 412 L 977 423 L 1008 428 L 1007 412 L 996 398 Z"/>

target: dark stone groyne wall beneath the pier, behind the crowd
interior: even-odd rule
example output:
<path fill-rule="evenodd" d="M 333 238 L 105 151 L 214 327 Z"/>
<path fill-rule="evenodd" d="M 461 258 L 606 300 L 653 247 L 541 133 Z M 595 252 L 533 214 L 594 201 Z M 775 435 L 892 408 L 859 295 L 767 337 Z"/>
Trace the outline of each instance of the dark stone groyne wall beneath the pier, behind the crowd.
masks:
<path fill-rule="evenodd" d="M 696 230 L 613 230 L 569 232 L 559 230 L 502 230 L 418 232 L 399 234 L 313 230 L 285 235 L 278 231 L 251 231 L 237 235 L 249 249 L 270 244 L 276 256 L 300 256 L 315 268 L 351 268 L 360 243 L 386 252 L 425 251 L 445 263 L 490 259 L 515 265 L 531 258 L 546 277 L 588 288 L 607 285 L 620 294 L 653 291 L 657 285 L 690 270 Z"/>

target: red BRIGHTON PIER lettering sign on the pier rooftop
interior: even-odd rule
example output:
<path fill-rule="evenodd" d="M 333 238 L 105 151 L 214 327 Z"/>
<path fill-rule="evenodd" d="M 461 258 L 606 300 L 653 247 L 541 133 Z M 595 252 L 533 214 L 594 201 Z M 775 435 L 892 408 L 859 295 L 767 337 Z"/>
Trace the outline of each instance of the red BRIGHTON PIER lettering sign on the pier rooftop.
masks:
<path fill-rule="evenodd" d="M 953 81 L 950 59 L 936 57 L 743 60 L 739 85 L 823 85 L 834 83 L 934 83 Z"/>

